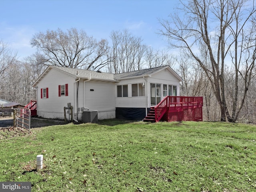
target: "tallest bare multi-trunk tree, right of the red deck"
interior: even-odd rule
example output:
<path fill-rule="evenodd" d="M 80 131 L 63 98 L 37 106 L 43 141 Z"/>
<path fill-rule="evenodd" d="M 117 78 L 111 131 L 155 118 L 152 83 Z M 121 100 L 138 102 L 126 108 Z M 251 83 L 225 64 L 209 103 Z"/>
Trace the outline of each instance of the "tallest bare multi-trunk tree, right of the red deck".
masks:
<path fill-rule="evenodd" d="M 184 19 L 178 14 L 171 14 L 170 20 L 160 20 L 163 30 L 160 34 L 166 36 L 170 47 L 185 48 L 186 52 L 196 60 L 204 70 L 204 74 L 212 84 L 213 92 L 219 103 L 221 120 L 235 122 L 244 102 L 238 102 L 238 76 L 246 69 L 243 80 L 246 82 L 244 96 L 248 91 L 252 70 L 254 68 L 255 54 L 244 54 L 245 41 L 251 42 L 248 34 L 255 35 L 255 30 L 246 31 L 250 20 L 255 16 L 254 2 L 246 0 L 190 0 L 188 4 L 181 1 Z M 200 52 L 198 47 L 205 47 Z M 252 44 L 255 47 L 255 44 Z M 202 54 L 207 54 L 210 63 L 205 63 Z M 246 58 L 246 56 L 248 56 Z M 226 103 L 225 73 L 224 69 L 230 59 L 235 71 L 234 99 L 232 105 Z M 250 61 L 248 67 L 240 65 Z M 246 69 L 244 69 L 244 67 Z M 240 106 L 238 106 L 240 104 Z M 232 112 L 230 115 L 230 111 Z"/>

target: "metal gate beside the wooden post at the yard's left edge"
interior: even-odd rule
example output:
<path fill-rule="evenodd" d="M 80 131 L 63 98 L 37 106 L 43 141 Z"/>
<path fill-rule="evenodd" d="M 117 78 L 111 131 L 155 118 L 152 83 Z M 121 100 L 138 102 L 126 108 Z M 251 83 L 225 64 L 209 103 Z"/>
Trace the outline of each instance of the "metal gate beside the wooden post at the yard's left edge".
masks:
<path fill-rule="evenodd" d="M 14 111 L 14 125 L 18 128 L 26 129 L 30 133 L 30 115 L 30 109 L 18 107 Z"/>

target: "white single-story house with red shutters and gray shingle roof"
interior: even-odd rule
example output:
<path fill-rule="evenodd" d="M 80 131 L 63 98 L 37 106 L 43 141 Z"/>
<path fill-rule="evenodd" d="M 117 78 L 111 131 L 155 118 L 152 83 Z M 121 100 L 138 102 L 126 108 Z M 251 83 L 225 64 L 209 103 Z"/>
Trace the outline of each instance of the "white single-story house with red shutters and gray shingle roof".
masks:
<path fill-rule="evenodd" d="M 181 81 L 170 66 L 122 74 L 48 66 L 33 87 L 38 116 L 44 118 L 63 119 L 70 103 L 75 120 L 82 120 L 85 110 L 97 110 L 98 119 L 142 120 L 165 96 L 179 96 Z"/>

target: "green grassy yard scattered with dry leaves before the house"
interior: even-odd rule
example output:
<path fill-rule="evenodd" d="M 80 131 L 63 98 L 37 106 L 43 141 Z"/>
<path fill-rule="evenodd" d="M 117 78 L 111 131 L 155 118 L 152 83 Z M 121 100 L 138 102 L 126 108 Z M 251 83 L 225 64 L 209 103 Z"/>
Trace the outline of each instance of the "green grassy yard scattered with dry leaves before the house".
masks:
<path fill-rule="evenodd" d="M 32 192 L 256 191 L 254 125 L 106 120 L 19 135 L 0 132 L 0 181 Z"/>

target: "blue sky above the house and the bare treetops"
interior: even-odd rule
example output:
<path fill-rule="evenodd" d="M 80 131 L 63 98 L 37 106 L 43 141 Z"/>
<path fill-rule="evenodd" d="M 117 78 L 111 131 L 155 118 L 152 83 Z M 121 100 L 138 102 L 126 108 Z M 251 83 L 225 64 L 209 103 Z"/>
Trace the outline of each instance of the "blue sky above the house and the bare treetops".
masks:
<path fill-rule="evenodd" d="M 158 18 L 166 19 L 178 0 L 0 0 L 0 39 L 18 52 L 19 59 L 36 50 L 30 40 L 37 32 L 83 29 L 100 40 L 113 30 L 129 29 L 154 49 L 167 43 L 156 34 Z"/>

